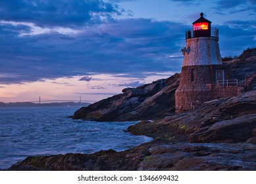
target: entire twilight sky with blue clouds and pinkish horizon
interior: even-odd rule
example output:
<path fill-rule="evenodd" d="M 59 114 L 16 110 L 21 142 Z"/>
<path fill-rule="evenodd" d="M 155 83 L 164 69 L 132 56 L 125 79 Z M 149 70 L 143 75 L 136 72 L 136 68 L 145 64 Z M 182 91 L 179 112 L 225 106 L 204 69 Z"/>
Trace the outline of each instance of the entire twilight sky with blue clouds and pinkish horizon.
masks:
<path fill-rule="evenodd" d="M 200 12 L 222 57 L 256 47 L 256 0 L 0 0 L 0 102 L 99 101 L 180 73 Z"/>

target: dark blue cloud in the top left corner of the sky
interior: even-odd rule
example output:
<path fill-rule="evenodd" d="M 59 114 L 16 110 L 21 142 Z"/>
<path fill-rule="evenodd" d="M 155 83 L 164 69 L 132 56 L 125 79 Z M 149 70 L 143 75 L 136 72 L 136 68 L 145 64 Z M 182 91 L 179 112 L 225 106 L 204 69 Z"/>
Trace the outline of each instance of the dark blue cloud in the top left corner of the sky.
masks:
<path fill-rule="evenodd" d="M 95 24 L 119 14 L 118 7 L 103 0 L 0 1 L 1 20 L 32 22 L 37 26 L 77 27 Z"/>

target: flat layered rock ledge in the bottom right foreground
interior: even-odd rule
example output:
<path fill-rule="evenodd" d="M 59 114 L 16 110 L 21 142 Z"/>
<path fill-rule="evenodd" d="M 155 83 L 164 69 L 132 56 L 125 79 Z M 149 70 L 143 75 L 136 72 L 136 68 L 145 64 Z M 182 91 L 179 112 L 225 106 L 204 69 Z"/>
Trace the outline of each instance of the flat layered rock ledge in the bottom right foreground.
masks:
<path fill-rule="evenodd" d="M 138 170 L 256 170 L 256 145 L 178 143 L 149 149 Z"/>

